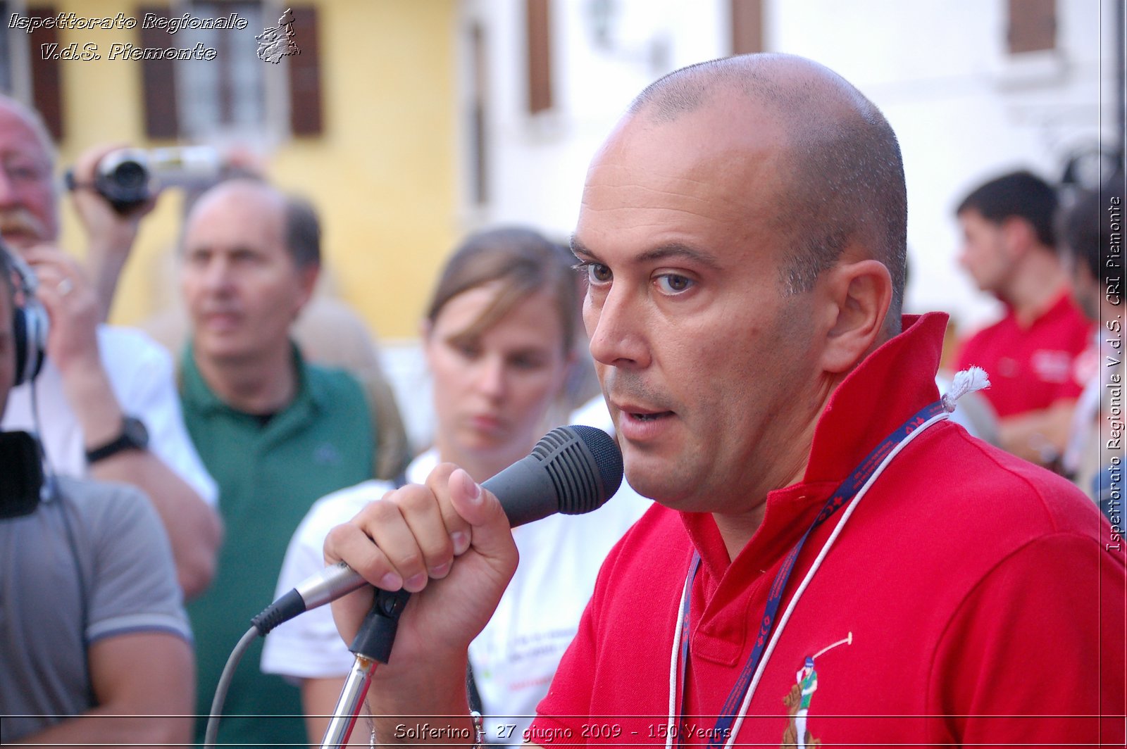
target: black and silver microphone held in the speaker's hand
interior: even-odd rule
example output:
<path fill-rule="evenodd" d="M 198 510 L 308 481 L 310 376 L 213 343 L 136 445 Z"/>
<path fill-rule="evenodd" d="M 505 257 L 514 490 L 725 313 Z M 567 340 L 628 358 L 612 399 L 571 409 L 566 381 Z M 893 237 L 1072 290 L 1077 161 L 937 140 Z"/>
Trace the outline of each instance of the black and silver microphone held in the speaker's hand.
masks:
<path fill-rule="evenodd" d="M 556 512 L 583 515 L 602 507 L 622 483 L 622 454 L 602 429 L 557 427 L 532 453 L 481 485 L 491 491 L 517 527 Z M 267 606 L 251 624 L 266 635 L 283 622 L 367 585 L 344 562 L 311 574 Z"/>

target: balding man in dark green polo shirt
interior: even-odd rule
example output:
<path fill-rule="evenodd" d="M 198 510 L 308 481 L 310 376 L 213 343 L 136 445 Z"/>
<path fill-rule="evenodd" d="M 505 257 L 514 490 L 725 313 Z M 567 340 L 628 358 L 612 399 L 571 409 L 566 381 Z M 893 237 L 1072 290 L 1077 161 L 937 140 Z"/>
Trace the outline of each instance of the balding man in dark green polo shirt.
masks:
<path fill-rule="evenodd" d="M 259 181 L 223 182 L 188 215 L 181 259 L 184 419 L 227 528 L 215 579 L 188 606 L 206 716 L 228 656 L 273 597 L 290 536 L 319 497 L 372 478 L 374 436 L 360 384 L 305 363 L 290 338 L 320 269 L 307 203 Z M 298 688 L 259 671 L 260 643 L 236 672 L 219 742 L 303 743 Z"/>

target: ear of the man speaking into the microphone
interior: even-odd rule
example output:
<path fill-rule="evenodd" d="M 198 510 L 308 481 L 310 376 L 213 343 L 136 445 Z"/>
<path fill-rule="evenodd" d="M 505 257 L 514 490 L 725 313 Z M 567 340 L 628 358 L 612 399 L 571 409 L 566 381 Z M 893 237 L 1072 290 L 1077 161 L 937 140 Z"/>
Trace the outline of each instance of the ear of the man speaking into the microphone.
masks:
<path fill-rule="evenodd" d="M 831 314 L 822 368 L 843 374 L 884 342 L 885 315 L 893 303 L 893 278 L 873 259 L 842 261 L 826 274 Z"/>

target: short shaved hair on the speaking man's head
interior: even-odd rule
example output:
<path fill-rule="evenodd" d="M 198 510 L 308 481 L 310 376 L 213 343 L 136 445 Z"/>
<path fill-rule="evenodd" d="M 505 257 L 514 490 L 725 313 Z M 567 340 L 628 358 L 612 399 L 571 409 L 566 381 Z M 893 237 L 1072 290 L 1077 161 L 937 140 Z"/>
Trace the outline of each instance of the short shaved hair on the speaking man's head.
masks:
<path fill-rule="evenodd" d="M 844 78 L 793 55 L 724 57 L 674 71 L 646 88 L 629 114 L 673 122 L 721 96 L 743 96 L 782 126 L 789 141 L 772 223 L 792 248 L 783 289 L 814 287 L 851 243 L 888 268 L 886 329 L 899 331 L 907 266 L 907 188 L 896 134 L 876 105 Z"/>

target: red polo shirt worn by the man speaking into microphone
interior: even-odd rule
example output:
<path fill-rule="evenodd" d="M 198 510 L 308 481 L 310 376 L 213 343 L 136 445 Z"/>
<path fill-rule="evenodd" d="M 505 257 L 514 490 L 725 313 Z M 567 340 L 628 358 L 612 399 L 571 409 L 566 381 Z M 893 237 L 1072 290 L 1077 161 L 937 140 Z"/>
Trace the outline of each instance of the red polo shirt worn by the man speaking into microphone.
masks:
<path fill-rule="evenodd" d="M 862 457 L 938 399 L 944 327 L 941 314 L 905 318 L 905 332 L 845 378 L 804 481 L 767 496 L 735 560 L 711 515 L 655 505 L 604 563 L 529 738 L 664 743 L 674 625 L 696 550 L 683 714 L 686 740 L 704 743 L 782 558 Z M 780 610 L 841 515 L 810 535 Z M 793 743 L 805 721 L 808 741 L 837 746 L 1121 744 L 1127 574 L 1121 546 L 1106 549 L 1116 538 L 1068 482 L 950 421 L 932 426 L 859 500 L 783 628 L 737 741 Z M 816 688 L 799 715 L 808 657 Z"/>

